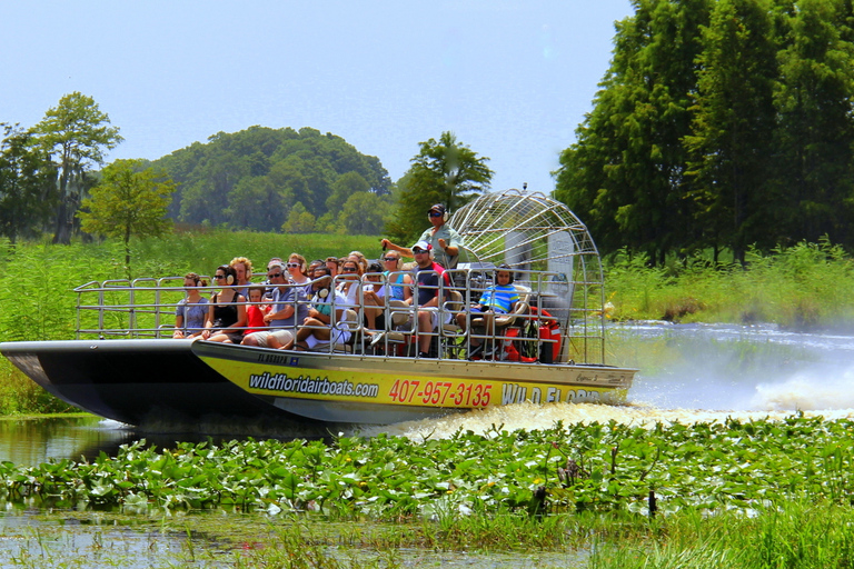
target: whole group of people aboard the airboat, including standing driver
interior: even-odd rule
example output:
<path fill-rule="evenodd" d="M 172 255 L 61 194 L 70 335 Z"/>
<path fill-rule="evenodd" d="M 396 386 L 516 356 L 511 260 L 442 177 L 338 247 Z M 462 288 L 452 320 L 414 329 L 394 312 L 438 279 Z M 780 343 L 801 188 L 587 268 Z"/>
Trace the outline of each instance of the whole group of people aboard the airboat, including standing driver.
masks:
<path fill-rule="evenodd" d="M 437 203 L 428 211 L 431 227 L 420 239 L 405 248 L 381 241 L 384 254 L 370 262 L 359 251 L 346 257 L 327 257 L 307 263 L 305 257 L 291 253 L 287 261 L 272 258 L 267 263 L 264 282 L 252 282 L 252 263 L 237 257 L 217 267 L 217 290 L 210 299 L 200 288 L 207 282 L 190 272 L 183 279 L 187 292 L 176 308 L 173 338 L 201 338 L 209 341 L 242 343 L 262 348 L 312 349 L 320 343 L 347 342 L 351 329 L 335 326 L 348 312 L 361 313 L 366 335 L 379 335 L 387 328 L 388 301 L 414 307 L 417 320 L 419 357 L 427 357 L 433 330 L 445 322 L 439 307 L 441 291 L 450 287 L 446 269 L 457 267 L 463 239 L 446 224 L 445 206 Z M 404 256 L 415 259 L 404 264 Z M 504 267 L 503 267 L 504 268 Z M 484 292 L 471 313 L 486 316 L 508 312 L 518 296 L 513 296 L 513 277 L 507 270 L 497 272 L 497 284 Z M 440 282 L 443 284 L 440 286 Z M 456 316 L 465 329 L 466 315 Z M 477 343 L 473 343 L 477 347 Z"/>

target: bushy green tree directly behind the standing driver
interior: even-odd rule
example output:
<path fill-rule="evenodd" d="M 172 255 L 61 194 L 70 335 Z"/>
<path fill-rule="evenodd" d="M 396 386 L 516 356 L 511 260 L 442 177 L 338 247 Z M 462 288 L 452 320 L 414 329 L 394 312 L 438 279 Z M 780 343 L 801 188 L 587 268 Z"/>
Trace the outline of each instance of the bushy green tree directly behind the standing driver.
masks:
<path fill-rule="evenodd" d="M 398 180 L 399 199 L 394 221 L 386 232 L 400 241 L 417 237 L 425 228 L 426 211 L 434 203 L 444 203 L 449 211 L 465 206 L 478 193 L 489 189 L 493 171 L 453 132 L 445 131 L 439 140 L 419 142 L 413 166 Z"/>

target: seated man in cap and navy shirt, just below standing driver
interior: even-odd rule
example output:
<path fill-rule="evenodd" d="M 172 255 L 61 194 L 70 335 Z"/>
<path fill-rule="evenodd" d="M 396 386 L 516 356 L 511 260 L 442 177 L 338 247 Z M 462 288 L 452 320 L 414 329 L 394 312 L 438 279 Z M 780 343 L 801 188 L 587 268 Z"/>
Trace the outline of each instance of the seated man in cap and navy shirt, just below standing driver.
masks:
<path fill-rule="evenodd" d="M 450 286 L 448 273 L 441 264 L 433 260 L 433 246 L 427 241 L 418 241 L 410 251 L 418 264 L 415 272 L 417 295 L 413 295 L 406 302 L 418 308 L 418 357 L 426 358 L 430 351 L 433 332 L 439 325 L 439 307 L 441 306 L 441 289 L 439 279 L 445 287 Z"/>

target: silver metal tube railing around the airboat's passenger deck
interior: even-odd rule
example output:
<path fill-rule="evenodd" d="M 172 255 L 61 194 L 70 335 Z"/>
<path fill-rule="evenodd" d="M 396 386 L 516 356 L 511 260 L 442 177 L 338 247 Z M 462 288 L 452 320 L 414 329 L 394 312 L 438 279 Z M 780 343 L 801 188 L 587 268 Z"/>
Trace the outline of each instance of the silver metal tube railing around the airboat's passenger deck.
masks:
<path fill-rule="evenodd" d="M 436 312 L 439 325 L 426 329 L 418 327 L 418 309 L 410 303 L 396 301 L 391 295 L 380 297 L 381 306 L 371 307 L 365 303 L 365 287 L 394 287 L 397 276 L 408 271 L 390 274 L 368 273 L 363 276 L 358 289 L 358 301 L 352 306 L 344 306 L 349 311 L 349 318 L 334 322 L 332 326 L 347 328 L 350 331 L 349 345 L 338 346 L 334 342 L 321 345 L 317 350 L 329 352 L 348 351 L 360 356 L 389 355 L 418 356 L 418 345 L 423 337 L 430 337 L 430 356 L 438 358 L 465 358 L 473 349 L 471 341 L 486 343 L 495 348 L 493 358 L 499 360 L 530 359 L 520 356 L 539 353 L 543 358 L 546 347 L 558 343 L 554 361 L 585 361 L 604 363 L 604 320 L 599 307 L 588 307 L 587 298 L 573 301 L 572 293 L 586 290 L 589 283 L 573 281 L 566 274 L 550 271 L 514 270 L 515 287 L 519 291 L 524 310 L 510 315 L 510 325 L 498 322 L 490 329 L 478 327 L 478 318 L 470 312 L 469 307 L 477 302 L 483 291 L 494 283 L 494 267 L 447 271 L 451 277 L 448 281 L 439 279 L 438 287 L 419 284 L 413 278 L 410 292 L 418 298 L 425 288 L 438 288 L 443 302 L 430 309 Z M 366 278 L 368 277 L 368 278 Z M 331 288 L 332 299 L 335 289 L 346 279 L 335 277 Z M 371 280 L 373 279 L 373 282 Z M 317 281 L 312 281 L 315 283 Z M 182 277 L 139 278 L 133 280 L 91 281 L 75 289 L 77 292 L 77 337 L 78 338 L 171 338 L 175 331 L 175 315 L 178 301 L 185 298 Z M 264 283 L 256 282 L 256 286 Z M 266 284 L 269 287 L 269 284 Z M 289 284 L 306 287 L 305 284 Z M 218 287 L 199 287 L 202 296 L 209 296 L 219 290 Z M 433 292 L 433 291 L 431 291 Z M 265 300 L 265 302 L 269 302 Z M 249 305 L 250 302 L 246 302 Z M 298 305 L 310 305 L 308 295 L 298 296 Z M 371 330 L 367 327 L 367 310 L 375 310 L 376 316 L 383 316 L 385 327 Z M 423 317 L 424 318 L 424 317 Z M 464 326 L 457 326 L 457 319 Z M 558 330 L 554 337 L 540 333 L 532 335 L 532 327 L 540 330 L 553 327 Z M 427 327 L 429 328 L 429 327 Z M 261 328 L 268 329 L 268 327 Z M 252 330 L 259 330 L 254 327 Z M 527 333 L 526 333 L 527 332 Z M 178 340 L 176 340 L 178 341 Z M 552 346 L 549 346 L 552 345 Z M 548 353 L 552 353 L 549 350 Z M 517 356 L 518 355 L 518 356 Z"/>

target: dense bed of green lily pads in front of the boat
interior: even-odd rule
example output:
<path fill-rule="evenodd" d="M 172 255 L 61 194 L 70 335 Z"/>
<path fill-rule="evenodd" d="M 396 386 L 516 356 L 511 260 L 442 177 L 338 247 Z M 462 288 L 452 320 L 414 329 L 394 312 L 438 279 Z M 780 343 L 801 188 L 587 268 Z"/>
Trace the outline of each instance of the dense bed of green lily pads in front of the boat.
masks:
<path fill-rule="evenodd" d="M 544 431 L 125 446 L 115 458 L 0 465 L 2 499 L 131 508 L 319 510 L 396 519 L 441 511 L 528 515 L 757 509 L 854 497 L 851 420 L 655 425 Z"/>

